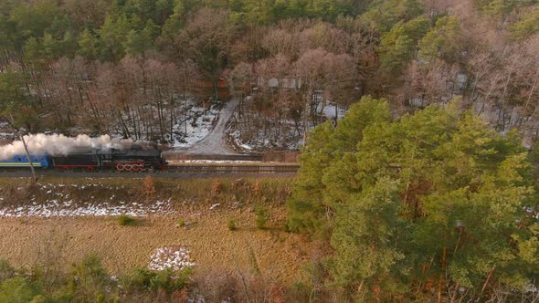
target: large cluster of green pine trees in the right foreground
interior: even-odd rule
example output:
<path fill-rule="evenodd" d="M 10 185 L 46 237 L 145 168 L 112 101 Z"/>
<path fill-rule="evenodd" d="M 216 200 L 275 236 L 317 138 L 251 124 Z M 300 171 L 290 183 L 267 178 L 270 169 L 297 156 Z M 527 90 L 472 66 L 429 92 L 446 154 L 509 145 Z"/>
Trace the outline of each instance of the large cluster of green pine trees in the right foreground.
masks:
<path fill-rule="evenodd" d="M 492 268 L 507 287 L 532 283 L 537 228 L 525 210 L 537 203 L 526 152 L 513 133 L 498 134 L 457 110 L 458 102 L 400 120 L 363 118 L 359 127 L 321 125 L 312 136 L 327 133 L 325 140 L 311 137 L 316 152 L 309 145 L 302 151 L 289 225 L 328 235 L 333 280 L 360 289 L 354 296 L 401 298 L 411 284 L 439 276 L 444 250 L 451 252 L 444 273 L 450 283 L 481 289 Z M 365 110 L 386 107 L 375 104 L 365 103 Z M 346 136 L 337 131 L 357 143 L 343 145 Z M 315 166 L 311 157 L 321 154 L 325 163 Z"/>

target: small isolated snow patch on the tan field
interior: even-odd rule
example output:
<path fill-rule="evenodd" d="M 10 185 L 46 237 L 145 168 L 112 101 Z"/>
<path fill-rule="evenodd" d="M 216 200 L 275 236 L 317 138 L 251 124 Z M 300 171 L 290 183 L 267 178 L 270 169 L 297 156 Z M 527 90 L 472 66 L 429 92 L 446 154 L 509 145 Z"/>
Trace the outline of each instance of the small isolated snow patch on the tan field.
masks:
<path fill-rule="evenodd" d="M 173 246 L 157 248 L 153 252 L 148 268 L 152 270 L 172 269 L 182 270 L 185 267 L 196 266 L 191 262 L 189 251 L 185 247 Z"/>

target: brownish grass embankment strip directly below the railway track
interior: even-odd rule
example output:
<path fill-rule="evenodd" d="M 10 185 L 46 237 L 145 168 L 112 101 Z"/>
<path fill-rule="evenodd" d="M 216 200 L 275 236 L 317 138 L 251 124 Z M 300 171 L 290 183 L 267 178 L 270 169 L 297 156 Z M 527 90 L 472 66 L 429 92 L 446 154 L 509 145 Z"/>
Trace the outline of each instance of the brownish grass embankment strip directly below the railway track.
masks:
<path fill-rule="evenodd" d="M 47 190 L 44 190 L 47 186 Z M 52 189 L 50 193 L 48 190 Z M 37 183 L 27 179 L 0 178 L 2 204 L 22 205 L 54 199 L 58 193 L 78 202 L 170 201 L 182 213 L 220 204 L 282 205 L 291 193 L 291 178 L 227 179 L 203 178 L 178 180 L 167 178 L 60 178 L 46 177 Z"/>

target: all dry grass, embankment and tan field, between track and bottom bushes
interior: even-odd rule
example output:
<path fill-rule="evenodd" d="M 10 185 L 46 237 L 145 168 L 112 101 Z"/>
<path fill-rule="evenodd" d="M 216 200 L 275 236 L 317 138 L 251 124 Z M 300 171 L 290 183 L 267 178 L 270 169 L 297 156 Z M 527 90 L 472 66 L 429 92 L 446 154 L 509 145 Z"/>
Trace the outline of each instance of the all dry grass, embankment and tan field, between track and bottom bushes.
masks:
<path fill-rule="evenodd" d="M 155 193 L 148 195 L 149 183 Z M 44 191 L 44 184 L 53 186 L 53 192 Z M 49 177 L 37 184 L 24 179 L 0 179 L 3 204 L 29 204 L 31 199 L 39 203 L 54 193 L 69 194 L 81 201 L 92 197 L 92 201 L 102 199 L 111 204 L 120 199 L 170 199 L 176 214 L 139 219 L 139 224 L 132 228 L 118 225 L 117 217 L 3 218 L 0 256 L 16 266 L 30 267 L 40 262 L 42 254 L 36 247 L 61 242 L 61 248 L 55 248 L 56 255 L 65 260 L 66 266 L 89 253 L 97 253 L 111 272 L 122 273 L 132 266 L 145 266 L 155 248 L 186 246 L 197 264 L 196 271 L 237 275 L 238 266 L 245 268 L 254 262 L 265 277 L 294 283 L 301 279 L 301 263 L 310 249 L 301 235 L 283 231 L 284 202 L 291 193 L 291 179 L 150 182 Z M 215 204 L 219 205 L 212 209 L 210 206 Z M 266 230 L 256 228 L 255 209 L 259 205 L 270 210 Z M 234 218 L 237 227 L 233 233 L 227 227 L 230 218 Z M 179 220 L 188 225 L 178 226 Z M 56 240 L 50 241 L 51 238 Z"/>

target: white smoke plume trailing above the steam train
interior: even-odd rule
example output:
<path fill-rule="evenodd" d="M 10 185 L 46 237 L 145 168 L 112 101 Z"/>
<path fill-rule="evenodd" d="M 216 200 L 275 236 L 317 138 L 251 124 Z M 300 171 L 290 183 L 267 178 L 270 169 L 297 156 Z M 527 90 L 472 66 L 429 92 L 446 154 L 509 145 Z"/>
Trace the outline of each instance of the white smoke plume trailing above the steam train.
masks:
<path fill-rule="evenodd" d="M 47 153 L 52 156 L 67 155 L 74 151 L 98 148 L 102 150 L 129 149 L 133 141 L 124 139 L 111 139 L 109 135 L 90 138 L 88 135 L 79 135 L 75 138 L 64 135 L 43 133 L 30 134 L 25 136 L 26 145 L 30 154 Z M 14 141 L 11 144 L 0 146 L 0 160 L 13 159 L 15 155 L 25 154 L 25 147 L 22 141 Z"/>

